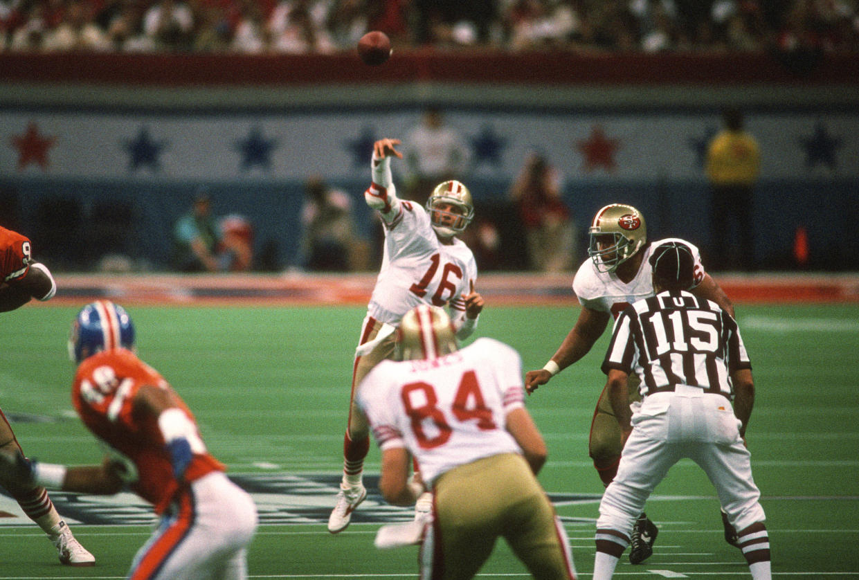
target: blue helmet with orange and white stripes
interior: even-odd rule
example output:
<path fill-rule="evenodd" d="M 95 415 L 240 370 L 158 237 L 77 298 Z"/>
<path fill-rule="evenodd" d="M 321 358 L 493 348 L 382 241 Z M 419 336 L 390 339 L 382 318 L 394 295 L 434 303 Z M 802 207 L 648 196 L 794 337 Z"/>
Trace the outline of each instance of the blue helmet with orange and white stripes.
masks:
<path fill-rule="evenodd" d="M 76 363 L 96 352 L 134 348 L 134 323 L 125 308 L 96 300 L 81 308 L 71 323 L 69 357 Z"/>

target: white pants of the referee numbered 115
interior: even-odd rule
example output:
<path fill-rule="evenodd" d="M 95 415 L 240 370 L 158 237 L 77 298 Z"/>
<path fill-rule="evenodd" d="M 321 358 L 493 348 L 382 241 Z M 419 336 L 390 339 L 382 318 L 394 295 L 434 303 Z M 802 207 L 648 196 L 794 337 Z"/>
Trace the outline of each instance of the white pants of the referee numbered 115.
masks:
<path fill-rule="evenodd" d="M 630 537 L 650 493 L 685 457 L 707 473 L 734 528 L 765 521 L 760 491 L 752 479 L 751 455 L 740 437 L 740 420 L 721 394 L 679 385 L 673 393 L 648 395 L 632 424 L 618 474 L 600 502 L 598 529 Z"/>

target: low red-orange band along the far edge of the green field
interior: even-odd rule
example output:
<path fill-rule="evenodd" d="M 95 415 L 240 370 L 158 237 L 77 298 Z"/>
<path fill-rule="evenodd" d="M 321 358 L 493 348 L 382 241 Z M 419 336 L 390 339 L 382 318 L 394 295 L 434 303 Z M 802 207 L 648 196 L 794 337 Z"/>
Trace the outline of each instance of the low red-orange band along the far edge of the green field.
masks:
<path fill-rule="evenodd" d="M 253 305 L 366 304 L 375 274 L 271 276 L 67 274 L 57 277 L 57 296 L 39 306 L 81 305 L 109 297 L 120 303 Z M 856 274 L 714 274 L 734 302 L 859 302 Z M 484 274 L 478 284 L 487 301 L 498 305 L 572 305 L 573 275 Z M 35 303 L 35 302 L 34 302 Z"/>

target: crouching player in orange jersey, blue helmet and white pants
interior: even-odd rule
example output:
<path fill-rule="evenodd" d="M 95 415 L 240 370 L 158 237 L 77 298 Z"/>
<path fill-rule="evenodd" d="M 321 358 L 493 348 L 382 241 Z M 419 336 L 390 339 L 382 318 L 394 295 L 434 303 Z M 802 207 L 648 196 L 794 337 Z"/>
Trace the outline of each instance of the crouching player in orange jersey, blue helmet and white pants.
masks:
<path fill-rule="evenodd" d="M 131 563 L 130 580 L 243 580 L 257 526 L 253 500 L 206 450 L 179 395 L 133 348 L 124 308 L 100 300 L 77 314 L 69 354 L 80 364 L 71 397 L 83 424 L 106 444 L 101 465 L 0 457 L 21 481 L 98 495 L 127 484 L 153 504 L 161 522 Z"/>

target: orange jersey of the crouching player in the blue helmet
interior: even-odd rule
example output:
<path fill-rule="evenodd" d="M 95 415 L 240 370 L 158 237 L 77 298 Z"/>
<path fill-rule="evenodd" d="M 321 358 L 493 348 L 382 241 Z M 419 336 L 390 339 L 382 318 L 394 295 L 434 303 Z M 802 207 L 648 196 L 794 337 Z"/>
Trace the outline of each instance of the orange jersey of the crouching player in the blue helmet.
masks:
<path fill-rule="evenodd" d="M 140 417 L 132 401 L 144 385 L 169 389 L 158 371 L 126 349 L 111 349 L 85 359 L 77 369 L 71 399 L 84 424 L 95 436 L 131 460 L 137 482 L 131 484 L 141 498 L 161 513 L 168 507 L 179 482 L 174 478 L 170 455 L 155 417 Z M 192 418 L 192 412 L 182 404 Z M 195 453 L 185 473 L 193 481 L 225 468 L 208 452 Z"/>

